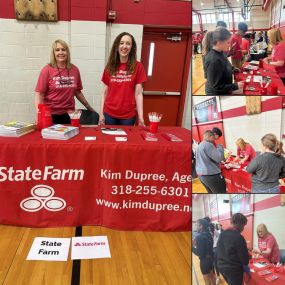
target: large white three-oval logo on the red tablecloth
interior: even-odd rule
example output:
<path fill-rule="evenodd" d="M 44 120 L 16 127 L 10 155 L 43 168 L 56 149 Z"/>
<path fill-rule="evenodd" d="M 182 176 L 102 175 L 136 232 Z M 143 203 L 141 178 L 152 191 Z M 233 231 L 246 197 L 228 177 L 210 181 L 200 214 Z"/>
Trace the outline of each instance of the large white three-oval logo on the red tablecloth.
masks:
<path fill-rule="evenodd" d="M 42 208 L 56 212 L 65 208 L 66 202 L 58 197 L 53 197 L 54 189 L 47 185 L 37 185 L 31 189 L 32 197 L 24 199 L 20 207 L 27 212 L 37 212 Z"/>

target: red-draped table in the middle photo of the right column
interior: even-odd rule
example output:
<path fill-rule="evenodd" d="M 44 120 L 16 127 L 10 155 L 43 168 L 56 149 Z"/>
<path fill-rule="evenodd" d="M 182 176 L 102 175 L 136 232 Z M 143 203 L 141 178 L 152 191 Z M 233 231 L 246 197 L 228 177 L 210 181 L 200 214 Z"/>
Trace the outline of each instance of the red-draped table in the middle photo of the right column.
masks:
<path fill-rule="evenodd" d="M 228 193 L 251 192 L 251 173 L 246 172 L 243 167 L 227 169 L 222 165 L 221 169 Z M 280 193 L 285 193 L 285 186 L 280 186 Z"/>

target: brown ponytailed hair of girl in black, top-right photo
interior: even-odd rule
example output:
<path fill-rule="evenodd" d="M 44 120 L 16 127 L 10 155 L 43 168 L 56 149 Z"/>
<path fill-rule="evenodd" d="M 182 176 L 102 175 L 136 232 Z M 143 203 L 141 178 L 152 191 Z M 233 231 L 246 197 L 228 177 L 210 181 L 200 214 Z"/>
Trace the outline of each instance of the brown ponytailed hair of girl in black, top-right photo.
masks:
<path fill-rule="evenodd" d="M 217 42 L 223 42 L 231 37 L 231 33 L 223 27 L 206 33 L 203 40 L 203 55 L 206 55 Z"/>

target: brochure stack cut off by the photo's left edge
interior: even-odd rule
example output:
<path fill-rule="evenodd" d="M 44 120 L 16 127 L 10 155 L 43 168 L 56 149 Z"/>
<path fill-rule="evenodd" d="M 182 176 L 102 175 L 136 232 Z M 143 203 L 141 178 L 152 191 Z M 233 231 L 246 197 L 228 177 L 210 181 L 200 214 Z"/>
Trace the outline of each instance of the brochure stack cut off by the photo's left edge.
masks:
<path fill-rule="evenodd" d="M 8 122 L 0 125 L 0 136 L 2 137 L 20 137 L 27 133 L 34 131 L 35 124 L 23 123 L 23 122 Z"/>

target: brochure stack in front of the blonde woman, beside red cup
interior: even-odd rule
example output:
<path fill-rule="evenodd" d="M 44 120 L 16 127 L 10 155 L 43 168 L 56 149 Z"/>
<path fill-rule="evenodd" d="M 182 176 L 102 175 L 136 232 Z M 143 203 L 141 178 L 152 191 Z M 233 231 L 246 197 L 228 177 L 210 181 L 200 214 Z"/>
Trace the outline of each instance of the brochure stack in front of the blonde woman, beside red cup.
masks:
<path fill-rule="evenodd" d="M 78 134 L 78 127 L 64 126 L 60 124 L 42 129 L 42 137 L 44 139 L 68 140 Z"/>

